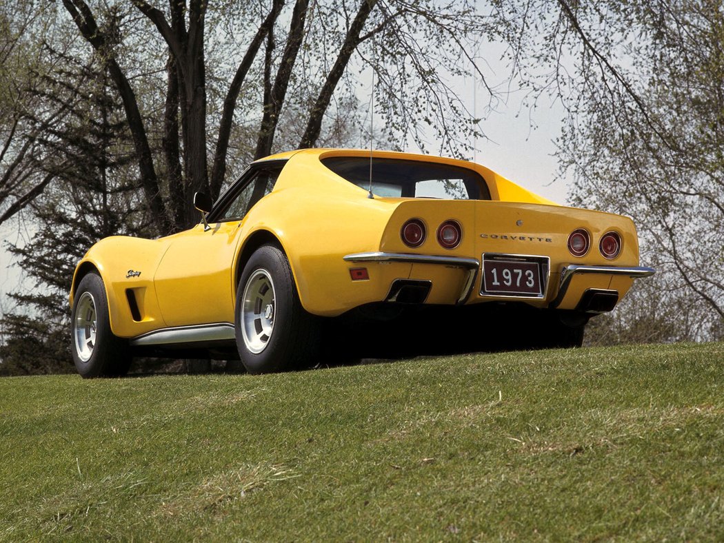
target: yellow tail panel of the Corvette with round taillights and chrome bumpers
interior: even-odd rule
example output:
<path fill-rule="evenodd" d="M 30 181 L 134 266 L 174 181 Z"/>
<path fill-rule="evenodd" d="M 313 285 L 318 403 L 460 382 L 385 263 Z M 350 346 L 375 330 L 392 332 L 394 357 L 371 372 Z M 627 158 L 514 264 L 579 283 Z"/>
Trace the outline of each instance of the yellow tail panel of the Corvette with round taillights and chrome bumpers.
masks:
<path fill-rule="evenodd" d="M 344 258 L 359 280 L 384 269 L 386 301 L 589 314 L 611 311 L 634 279 L 653 273 L 639 266 L 631 219 L 500 201 L 400 201 L 379 250 Z"/>

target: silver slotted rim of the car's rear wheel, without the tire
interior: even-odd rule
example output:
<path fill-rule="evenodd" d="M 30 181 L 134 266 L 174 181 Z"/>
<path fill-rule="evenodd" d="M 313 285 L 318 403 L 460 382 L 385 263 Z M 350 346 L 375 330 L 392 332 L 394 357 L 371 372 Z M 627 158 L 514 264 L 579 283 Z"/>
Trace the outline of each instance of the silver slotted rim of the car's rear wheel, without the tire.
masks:
<path fill-rule="evenodd" d="M 274 281 L 269 271 L 257 269 L 244 287 L 240 314 L 244 344 L 251 353 L 261 353 L 269 344 L 274 332 L 275 311 Z"/>

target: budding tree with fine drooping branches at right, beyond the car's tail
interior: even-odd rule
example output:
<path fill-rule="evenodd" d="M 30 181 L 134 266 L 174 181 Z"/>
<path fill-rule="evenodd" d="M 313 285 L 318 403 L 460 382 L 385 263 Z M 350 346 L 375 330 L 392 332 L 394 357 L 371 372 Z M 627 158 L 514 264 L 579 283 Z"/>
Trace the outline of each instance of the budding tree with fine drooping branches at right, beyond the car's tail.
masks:
<path fill-rule="evenodd" d="M 568 111 L 557 143 L 572 202 L 633 216 L 644 260 L 691 295 L 677 300 L 703 304 L 704 328 L 715 329 L 724 318 L 720 2 L 506 0 L 494 16 L 531 103 L 550 94 Z"/>

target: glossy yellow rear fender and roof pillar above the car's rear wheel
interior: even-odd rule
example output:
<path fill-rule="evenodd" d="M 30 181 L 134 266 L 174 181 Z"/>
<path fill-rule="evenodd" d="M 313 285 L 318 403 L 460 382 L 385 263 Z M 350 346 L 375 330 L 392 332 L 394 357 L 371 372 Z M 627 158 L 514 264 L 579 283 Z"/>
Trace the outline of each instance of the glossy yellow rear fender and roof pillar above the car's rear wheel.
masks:
<path fill-rule="evenodd" d="M 389 282 L 374 280 L 384 269 L 375 269 L 370 281 L 351 282 L 343 257 L 379 250 L 396 207 L 367 198 L 365 190 L 337 177 L 316 154 L 300 153 L 285 167 L 274 192 L 249 212 L 243 236 L 248 240 L 257 230 L 274 233 L 290 260 L 303 307 L 335 316 L 368 298 L 369 290 L 389 287 Z"/>

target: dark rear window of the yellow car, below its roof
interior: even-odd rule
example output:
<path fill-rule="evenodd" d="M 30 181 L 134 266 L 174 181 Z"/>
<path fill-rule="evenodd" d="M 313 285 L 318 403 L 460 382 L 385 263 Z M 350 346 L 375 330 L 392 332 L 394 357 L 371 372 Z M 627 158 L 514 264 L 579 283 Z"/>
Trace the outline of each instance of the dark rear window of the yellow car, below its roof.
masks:
<path fill-rule="evenodd" d="M 334 156 L 322 164 L 365 190 L 370 186 L 370 159 Z M 404 159 L 372 159 L 372 193 L 392 198 L 489 200 L 483 178 L 471 169 Z"/>

